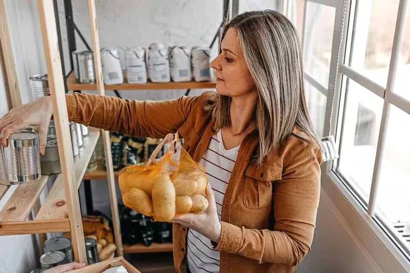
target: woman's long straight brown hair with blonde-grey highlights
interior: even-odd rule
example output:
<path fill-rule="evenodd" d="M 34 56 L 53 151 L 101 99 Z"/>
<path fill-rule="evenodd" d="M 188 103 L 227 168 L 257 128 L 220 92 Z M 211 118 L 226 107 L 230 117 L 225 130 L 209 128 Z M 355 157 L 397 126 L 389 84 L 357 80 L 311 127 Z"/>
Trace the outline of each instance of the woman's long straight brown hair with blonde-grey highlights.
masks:
<path fill-rule="evenodd" d="M 273 10 L 244 12 L 223 26 L 220 41 L 229 28 L 236 30 L 258 92 L 255 116 L 259 143 L 251 162 L 261 164 L 294 127 L 310 136 L 297 137 L 319 144 L 304 96 L 299 36 L 290 20 Z M 231 99 L 216 95 L 206 106 L 218 130 L 231 125 Z"/>

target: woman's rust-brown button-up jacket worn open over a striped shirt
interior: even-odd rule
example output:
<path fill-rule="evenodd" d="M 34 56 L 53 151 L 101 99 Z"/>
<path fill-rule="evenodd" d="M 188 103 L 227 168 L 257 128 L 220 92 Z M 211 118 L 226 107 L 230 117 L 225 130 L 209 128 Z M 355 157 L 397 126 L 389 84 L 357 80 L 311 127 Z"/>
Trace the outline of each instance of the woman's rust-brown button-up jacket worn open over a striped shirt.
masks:
<path fill-rule="evenodd" d="M 195 161 L 216 134 L 203 110 L 211 93 L 164 101 L 136 101 L 90 94 L 66 95 L 70 120 L 129 136 L 162 138 L 178 132 Z M 262 165 L 249 158 L 257 130 L 240 144 L 222 202 L 220 272 L 295 272 L 311 248 L 320 192 L 321 151 L 295 128 Z M 174 264 L 186 254 L 187 228 L 173 225 Z"/>

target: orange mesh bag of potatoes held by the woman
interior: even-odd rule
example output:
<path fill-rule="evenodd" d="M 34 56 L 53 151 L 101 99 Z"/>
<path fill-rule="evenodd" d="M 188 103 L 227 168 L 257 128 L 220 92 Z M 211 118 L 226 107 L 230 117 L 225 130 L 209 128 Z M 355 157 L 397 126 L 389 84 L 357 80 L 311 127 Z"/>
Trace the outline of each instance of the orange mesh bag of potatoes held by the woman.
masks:
<path fill-rule="evenodd" d="M 166 153 L 154 160 L 164 144 L 170 144 Z M 178 134 L 167 135 L 148 162 L 122 169 L 118 183 L 124 204 L 155 221 L 208 208 L 205 168 L 182 148 Z"/>

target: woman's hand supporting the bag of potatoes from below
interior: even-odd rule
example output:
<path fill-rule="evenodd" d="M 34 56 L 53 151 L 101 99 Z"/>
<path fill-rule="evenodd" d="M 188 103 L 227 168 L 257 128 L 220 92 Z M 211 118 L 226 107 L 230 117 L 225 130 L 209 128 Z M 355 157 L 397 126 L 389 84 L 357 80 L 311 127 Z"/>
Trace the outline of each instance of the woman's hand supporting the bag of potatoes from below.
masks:
<path fill-rule="evenodd" d="M 222 227 L 216 211 L 214 191 L 210 183 L 207 183 L 207 196 L 209 206 L 206 211 L 201 214 L 187 213 L 174 218 L 172 222 L 191 228 L 211 241 L 218 243 Z"/>

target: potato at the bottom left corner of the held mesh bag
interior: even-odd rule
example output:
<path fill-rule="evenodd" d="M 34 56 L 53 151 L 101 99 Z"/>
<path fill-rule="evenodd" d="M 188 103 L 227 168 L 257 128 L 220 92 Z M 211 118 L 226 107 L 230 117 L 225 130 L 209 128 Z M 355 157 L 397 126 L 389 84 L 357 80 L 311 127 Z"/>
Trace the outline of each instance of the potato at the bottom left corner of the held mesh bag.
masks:
<path fill-rule="evenodd" d="M 127 193 L 122 195 L 122 201 L 124 204 L 135 211 L 144 215 L 152 215 L 152 201 L 151 198 L 138 188 L 131 188 Z"/>

